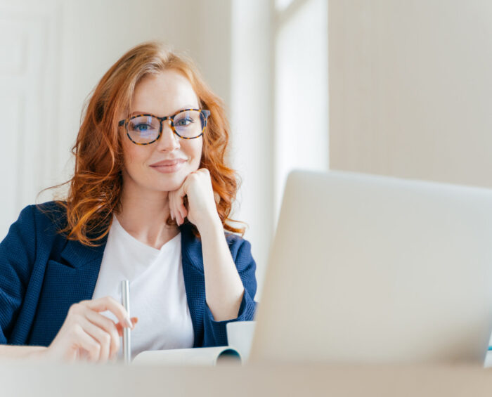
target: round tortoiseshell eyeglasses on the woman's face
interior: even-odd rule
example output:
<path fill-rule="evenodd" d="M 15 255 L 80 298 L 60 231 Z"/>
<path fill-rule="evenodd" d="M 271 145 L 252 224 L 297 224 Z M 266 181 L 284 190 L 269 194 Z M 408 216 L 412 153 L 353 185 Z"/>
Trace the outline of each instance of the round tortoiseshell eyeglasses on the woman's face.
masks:
<path fill-rule="evenodd" d="M 195 139 L 203 135 L 209 110 L 185 109 L 176 115 L 157 117 L 154 115 L 136 115 L 118 122 L 118 126 L 127 129 L 127 136 L 136 145 L 150 145 L 160 138 L 162 122 L 169 120 L 174 134 L 183 139 Z"/>

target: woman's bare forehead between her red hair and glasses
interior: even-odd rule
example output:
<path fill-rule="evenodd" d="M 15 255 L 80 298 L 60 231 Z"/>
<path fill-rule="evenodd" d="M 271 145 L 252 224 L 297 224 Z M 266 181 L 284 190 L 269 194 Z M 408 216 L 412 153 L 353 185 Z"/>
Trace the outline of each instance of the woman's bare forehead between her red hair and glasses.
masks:
<path fill-rule="evenodd" d="M 183 108 L 198 108 L 198 97 L 188 79 L 176 70 L 148 74 L 135 87 L 131 112 L 171 115 Z"/>

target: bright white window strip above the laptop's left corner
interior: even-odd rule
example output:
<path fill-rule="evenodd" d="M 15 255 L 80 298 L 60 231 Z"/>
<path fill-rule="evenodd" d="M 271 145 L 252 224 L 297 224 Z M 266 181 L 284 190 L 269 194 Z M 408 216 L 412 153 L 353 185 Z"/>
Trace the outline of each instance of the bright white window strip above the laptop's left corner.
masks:
<path fill-rule="evenodd" d="M 296 0 L 275 32 L 275 207 L 292 169 L 328 170 L 328 4 Z"/>

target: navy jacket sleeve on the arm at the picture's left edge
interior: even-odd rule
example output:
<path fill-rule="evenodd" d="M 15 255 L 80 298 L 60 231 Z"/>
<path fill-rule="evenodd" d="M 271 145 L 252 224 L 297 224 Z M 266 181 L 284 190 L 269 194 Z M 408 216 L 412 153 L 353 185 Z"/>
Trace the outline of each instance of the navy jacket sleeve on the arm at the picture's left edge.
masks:
<path fill-rule="evenodd" d="M 0 242 L 0 344 L 7 344 L 35 260 L 34 209 L 25 207 Z"/>

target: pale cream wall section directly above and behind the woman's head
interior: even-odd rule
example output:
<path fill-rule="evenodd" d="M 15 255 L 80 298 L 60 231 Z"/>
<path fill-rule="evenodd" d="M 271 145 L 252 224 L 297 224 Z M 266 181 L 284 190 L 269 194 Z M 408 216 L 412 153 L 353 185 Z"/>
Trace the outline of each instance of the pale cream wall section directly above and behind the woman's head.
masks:
<path fill-rule="evenodd" d="M 60 110 L 65 114 L 63 125 L 68 126 L 66 130 L 60 127 L 63 148 L 69 148 L 75 140 L 89 91 L 124 52 L 145 40 L 159 39 L 189 53 L 212 89 L 228 101 L 230 7 L 222 3 L 209 1 L 206 6 L 200 2 L 197 6 L 193 0 L 63 1 Z M 60 167 L 64 162 L 65 158 Z"/>

